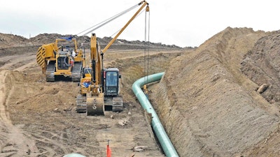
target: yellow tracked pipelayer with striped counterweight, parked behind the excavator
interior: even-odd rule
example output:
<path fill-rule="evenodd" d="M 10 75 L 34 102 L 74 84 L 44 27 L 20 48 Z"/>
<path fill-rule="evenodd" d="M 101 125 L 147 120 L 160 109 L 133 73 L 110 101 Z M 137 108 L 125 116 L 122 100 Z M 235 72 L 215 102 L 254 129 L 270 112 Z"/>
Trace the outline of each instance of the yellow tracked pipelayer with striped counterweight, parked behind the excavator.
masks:
<path fill-rule="evenodd" d="M 55 43 L 39 47 L 36 61 L 47 82 L 54 82 L 57 76 L 69 77 L 73 82 L 79 82 L 85 67 L 83 50 L 78 49 L 77 40 L 72 37 L 58 38 Z"/>

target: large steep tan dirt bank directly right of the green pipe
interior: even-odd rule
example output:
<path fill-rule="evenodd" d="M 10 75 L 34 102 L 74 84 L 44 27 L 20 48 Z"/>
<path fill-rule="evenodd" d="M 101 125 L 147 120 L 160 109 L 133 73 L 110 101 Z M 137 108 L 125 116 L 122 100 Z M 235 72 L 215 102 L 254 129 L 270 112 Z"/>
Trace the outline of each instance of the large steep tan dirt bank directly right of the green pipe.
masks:
<path fill-rule="evenodd" d="M 279 117 L 259 107 L 239 77 L 243 55 L 261 36 L 227 28 L 172 61 L 156 108 L 179 156 L 241 156 L 278 129 Z"/>

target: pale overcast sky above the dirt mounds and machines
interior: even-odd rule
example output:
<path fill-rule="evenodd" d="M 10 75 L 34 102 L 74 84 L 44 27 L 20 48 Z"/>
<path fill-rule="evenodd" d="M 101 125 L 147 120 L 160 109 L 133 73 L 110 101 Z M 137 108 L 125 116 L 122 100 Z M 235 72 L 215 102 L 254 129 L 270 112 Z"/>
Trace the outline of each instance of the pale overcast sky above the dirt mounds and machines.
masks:
<path fill-rule="evenodd" d="M 75 35 L 139 2 L 3 0 L 0 2 L 0 33 L 25 38 L 39 33 Z M 150 0 L 148 3 L 151 10 L 150 41 L 153 43 L 194 47 L 226 27 L 248 27 L 255 31 L 280 29 L 279 1 L 276 0 Z M 112 36 L 138 8 L 94 33 L 100 38 Z M 144 28 L 145 13 L 141 13 L 119 38 L 145 40 Z"/>

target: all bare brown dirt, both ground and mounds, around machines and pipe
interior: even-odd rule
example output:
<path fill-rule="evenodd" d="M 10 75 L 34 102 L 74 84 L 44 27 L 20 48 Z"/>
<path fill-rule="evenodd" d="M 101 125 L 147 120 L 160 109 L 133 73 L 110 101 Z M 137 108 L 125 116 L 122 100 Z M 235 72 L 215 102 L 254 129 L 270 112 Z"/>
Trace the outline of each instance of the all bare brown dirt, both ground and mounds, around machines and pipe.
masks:
<path fill-rule="evenodd" d="M 0 35 L 0 156 L 106 156 L 107 140 L 112 156 L 165 156 L 131 89 L 147 73 L 143 42 L 118 40 L 105 54 L 122 74 L 125 110 L 87 117 L 75 112 L 77 83 L 45 82 L 36 64 L 48 34 Z M 228 27 L 196 49 L 151 44 L 148 73 L 165 75 L 149 98 L 179 156 L 280 156 L 279 36 Z"/>

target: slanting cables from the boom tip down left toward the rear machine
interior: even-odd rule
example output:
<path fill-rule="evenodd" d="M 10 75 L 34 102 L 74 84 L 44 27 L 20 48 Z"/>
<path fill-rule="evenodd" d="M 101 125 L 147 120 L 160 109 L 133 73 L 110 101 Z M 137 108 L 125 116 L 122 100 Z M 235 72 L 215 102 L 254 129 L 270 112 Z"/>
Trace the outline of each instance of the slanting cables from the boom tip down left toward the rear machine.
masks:
<path fill-rule="evenodd" d="M 135 5 L 135 6 L 132 6 L 132 7 L 128 8 L 127 10 L 124 10 L 123 12 L 120 12 L 120 13 L 114 15 L 113 17 L 110 17 L 110 18 L 104 20 L 103 22 L 100 22 L 99 24 L 95 24 L 94 26 L 92 26 L 92 27 L 90 27 L 90 28 L 88 28 L 88 29 L 85 29 L 84 31 L 81 31 L 80 33 L 77 33 L 76 35 L 78 36 L 78 34 L 83 33 L 83 36 L 85 36 L 85 35 L 87 35 L 88 33 L 92 32 L 92 31 L 94 31 L 94 30 L 96 30 L 96 29 L 99 29 L 100 27 L 104 26 L 105 24 L 108 24 L 109 22 L 115 20 L 116 18 L 120 17 L 121 15 L 124 15 L 125 13 L 128 13 L 130 10 L 136 8 L 136 7 L 139 6 L 139 5 L 140 5 L 140 3 L 138 3 L 138 4 Z M 88 31 L 88 30 L 90 30 L 90 31 Z M 85 31 L 87 31 L 87 32 L 84 33 Z"/>

